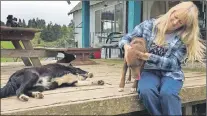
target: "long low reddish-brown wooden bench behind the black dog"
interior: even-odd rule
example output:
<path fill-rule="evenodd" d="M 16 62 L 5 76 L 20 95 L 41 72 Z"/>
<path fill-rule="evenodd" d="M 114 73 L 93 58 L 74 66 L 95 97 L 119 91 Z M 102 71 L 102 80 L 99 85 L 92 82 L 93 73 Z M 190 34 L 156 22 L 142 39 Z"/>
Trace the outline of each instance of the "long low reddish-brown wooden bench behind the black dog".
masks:
<path fill-rule="evenodd" d="M 72 64 L 88 65 L 95 64 L 95 61 L 90 60 L 89 55 L 96 51 L 100 51 L 101 48 L 35 48 L 35 50 L 45 50 L 45 52 L 63 53 L 64 58 L 58 62 L 68 63 L 70 61 L 71 54 L 76 56 L 76 59 L 72 61 Z"/>

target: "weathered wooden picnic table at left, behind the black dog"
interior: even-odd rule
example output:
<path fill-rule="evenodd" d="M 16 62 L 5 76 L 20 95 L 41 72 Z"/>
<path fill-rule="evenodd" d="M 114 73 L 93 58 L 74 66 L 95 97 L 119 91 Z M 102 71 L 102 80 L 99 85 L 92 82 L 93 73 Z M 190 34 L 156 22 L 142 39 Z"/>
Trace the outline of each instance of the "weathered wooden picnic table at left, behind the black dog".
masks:
<path fill-rule="evenodd" d="M 39 29 L 1 26 L 1 41 L 11 41 L 15 49 L 2 49 L 1 57 L 21 57 L 25 66 L 41 66 L 39 56 L 44 51 L 34 50 L 31 40 Z M 23 46 L 21 46 L 22 42 Z"/>

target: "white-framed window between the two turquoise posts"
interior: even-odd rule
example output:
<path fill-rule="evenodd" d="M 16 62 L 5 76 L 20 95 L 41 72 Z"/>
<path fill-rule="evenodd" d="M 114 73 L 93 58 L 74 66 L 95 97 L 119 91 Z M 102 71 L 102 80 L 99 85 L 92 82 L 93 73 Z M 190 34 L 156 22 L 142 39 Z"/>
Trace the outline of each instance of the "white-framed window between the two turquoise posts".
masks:
<path fill-rule="evenodd" d="M 123 4 L 119 3 L 95 11 L 95 32 L 123 32 L 123 7 Z"/>

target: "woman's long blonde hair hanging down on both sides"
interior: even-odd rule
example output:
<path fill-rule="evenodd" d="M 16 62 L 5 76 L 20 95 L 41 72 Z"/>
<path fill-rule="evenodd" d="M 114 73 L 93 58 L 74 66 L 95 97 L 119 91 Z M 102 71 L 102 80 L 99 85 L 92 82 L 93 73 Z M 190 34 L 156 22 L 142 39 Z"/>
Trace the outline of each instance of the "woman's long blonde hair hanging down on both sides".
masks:
<path fill-rule="evenodd" d="M 187 47 L 187 61 L 199 61 L 202 62 L 205 56 L 205 45 L 202 44 L 200 39 L 200 30 L 198 25 L 198 9 L 195 4 L 191 1 L 181 2 L 176 6 L 172 7 L 166 14 L 160 16 L 155 21 L 153 30 L 157 27 L 157 35 L 155 43 L 163 45 L 165 42 L 165 33 L 169 24 L 169 18 L 173 11 L 183 10 L 182 16 L 186 19 L 185 26 L 178 30 L 178 34 L 181 37 L 181 41 Z"/>

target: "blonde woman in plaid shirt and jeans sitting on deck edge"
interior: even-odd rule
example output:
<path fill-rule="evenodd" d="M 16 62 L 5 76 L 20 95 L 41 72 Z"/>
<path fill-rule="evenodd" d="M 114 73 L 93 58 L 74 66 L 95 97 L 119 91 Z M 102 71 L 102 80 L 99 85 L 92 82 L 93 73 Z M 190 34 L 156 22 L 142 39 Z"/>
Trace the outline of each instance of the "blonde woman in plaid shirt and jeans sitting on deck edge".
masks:
<path fill-rule="evenodd" d="M 205 46 L 199 41 L 198 9 L 193 2 L 181 2 L 157 19 L 137 25 L 119 42 L 130 49 L 134 37 L 143 37 L 148 53 L 137 56 L 146 60 L 138 85 L 139 97 L 152 115 L 182 115 L 179 92 L 184 74 L 181 62 L 202 62 Z"/>

